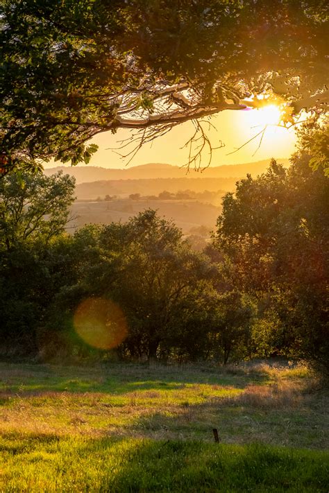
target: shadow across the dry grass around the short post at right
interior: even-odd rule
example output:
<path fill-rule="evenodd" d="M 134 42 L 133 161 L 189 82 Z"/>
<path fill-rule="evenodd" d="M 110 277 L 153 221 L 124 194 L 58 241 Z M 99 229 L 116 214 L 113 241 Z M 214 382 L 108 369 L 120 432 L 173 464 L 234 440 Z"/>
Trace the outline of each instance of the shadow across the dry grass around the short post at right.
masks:
<path fill-rule="evenodd" d="M 324 399 L 323 406 L 319 406 L 319 399 L 312 401 L 308 395 L 298 397 L 301 398 L 298 404 L 289 400 L 290 395 L 282 394 L 272 400 L 268 395 L 255 396 L 255 405 L 245 392 L 205 399 L 197 404 L 186 401 L 176 406 L 174 412 L 170 408 L 156 409 L 122 426 L 133 436 L 158 440 L 212 442 L 212 429 L 217 428 L 224 443 L 328 448 L 328 401 Z"/>

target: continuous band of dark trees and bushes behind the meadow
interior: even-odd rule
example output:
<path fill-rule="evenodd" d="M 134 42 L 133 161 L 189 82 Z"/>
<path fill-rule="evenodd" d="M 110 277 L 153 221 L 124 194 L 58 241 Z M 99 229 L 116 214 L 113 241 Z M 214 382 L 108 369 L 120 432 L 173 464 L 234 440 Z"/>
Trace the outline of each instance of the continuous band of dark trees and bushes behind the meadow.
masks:
<path fill-rule="evenodd" d="M 0 180 L 2 356 L 221 363 L 303 358 L 328 373 L 328 178 L 301 145 L 223 198 L 195 252 L 148 209 L 64 233 L 74 179 Z"/>

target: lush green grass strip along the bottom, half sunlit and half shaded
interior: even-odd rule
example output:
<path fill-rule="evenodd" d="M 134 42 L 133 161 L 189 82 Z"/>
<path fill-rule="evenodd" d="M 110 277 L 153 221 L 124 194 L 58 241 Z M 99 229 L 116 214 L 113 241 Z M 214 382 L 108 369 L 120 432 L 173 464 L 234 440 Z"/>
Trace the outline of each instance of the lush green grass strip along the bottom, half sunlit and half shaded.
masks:
<path fill-rule="evenodd" d="M 328 491 L 328 452 L 12 434 L 4 435 L 0 444 L 6 456 L 3 492 Z"/>

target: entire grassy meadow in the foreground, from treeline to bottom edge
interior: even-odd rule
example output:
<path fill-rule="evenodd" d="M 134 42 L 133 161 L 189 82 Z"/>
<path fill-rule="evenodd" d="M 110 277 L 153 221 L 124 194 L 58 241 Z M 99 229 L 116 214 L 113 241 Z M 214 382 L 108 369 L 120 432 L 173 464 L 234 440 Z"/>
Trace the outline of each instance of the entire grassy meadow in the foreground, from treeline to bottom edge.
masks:
<path fill-rule="evenodd" d="M 1 363 L 0 379 L 0 491 L 329 490 L 328 394 L 303 367 Z"/>

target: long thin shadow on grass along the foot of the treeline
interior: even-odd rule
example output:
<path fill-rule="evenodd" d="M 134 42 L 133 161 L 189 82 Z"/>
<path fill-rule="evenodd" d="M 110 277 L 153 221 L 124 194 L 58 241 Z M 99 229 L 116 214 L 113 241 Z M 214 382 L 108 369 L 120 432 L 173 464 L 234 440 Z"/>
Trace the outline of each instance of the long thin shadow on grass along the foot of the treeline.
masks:
<path fill-rule="evenodd" d="M 69 377 L 68 377 L 69 375 Z M 251 381 L 262 384 L 269 375 L 262 370 L 223 371 L 213 367 L 165 367 L 114 364 L 104 368 L 49 367 L 0 364 L 0 405 L 10 395 L 28 397 L 42 392 L 103 392 L 116 395 L 138 390 L 180 390 L 188 385 L 245 388 Z"/>

